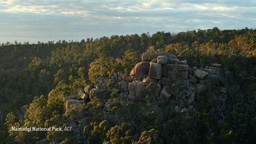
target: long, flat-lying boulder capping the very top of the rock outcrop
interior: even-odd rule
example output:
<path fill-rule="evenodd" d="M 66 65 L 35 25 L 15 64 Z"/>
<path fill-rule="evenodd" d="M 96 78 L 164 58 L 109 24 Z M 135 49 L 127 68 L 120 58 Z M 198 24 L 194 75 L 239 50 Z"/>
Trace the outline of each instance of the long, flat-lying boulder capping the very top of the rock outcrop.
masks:
<path fill-rule="evenodd" d="M 158 53 L 145 52 L 144 54 L 142 54 L 142 61 L 152 61 L 153 59 L 156 59 L 158 56 L 167 56 L 168 58 L 171 58 L 171 59 L 177 58 L 176 56 L 168 52 L 158 52 Z"/>

